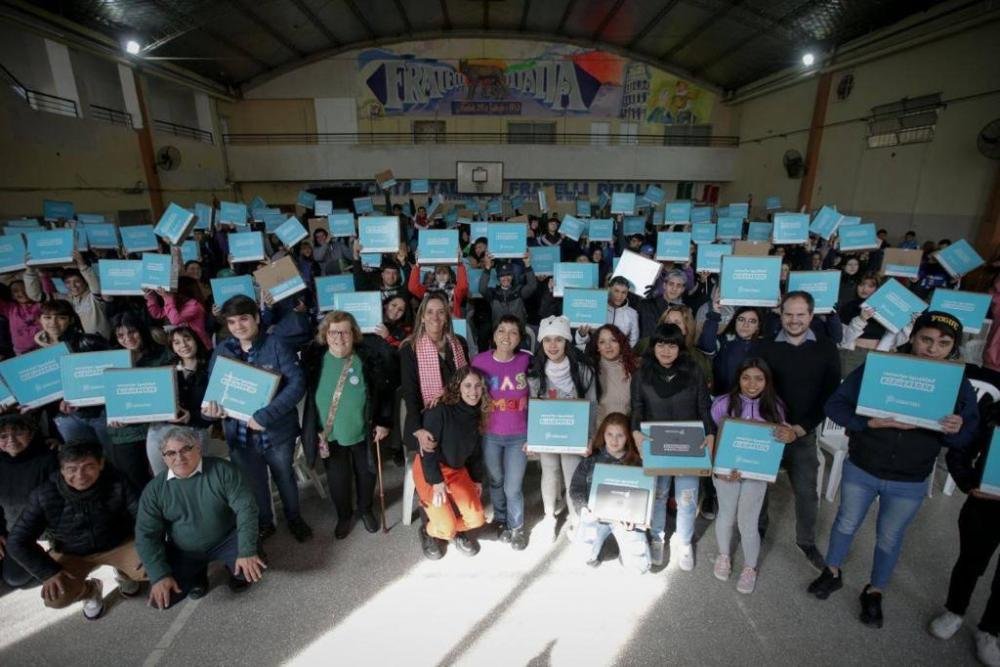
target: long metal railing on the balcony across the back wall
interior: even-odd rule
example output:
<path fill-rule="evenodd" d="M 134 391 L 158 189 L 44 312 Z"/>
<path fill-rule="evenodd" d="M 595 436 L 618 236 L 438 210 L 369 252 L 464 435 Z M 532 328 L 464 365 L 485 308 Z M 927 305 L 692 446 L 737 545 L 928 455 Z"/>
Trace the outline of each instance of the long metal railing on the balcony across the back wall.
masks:
<path fill-rule="evenodd" d="M 590 134 L 586 132 L 529 135 L 524 132 L 267 132 L 222 135 L 226 144 L 268 145 L 401 145 L 401 144 L 545 144 L 563 146 L 738 146 L 739 137 L 673 134 Z"/>

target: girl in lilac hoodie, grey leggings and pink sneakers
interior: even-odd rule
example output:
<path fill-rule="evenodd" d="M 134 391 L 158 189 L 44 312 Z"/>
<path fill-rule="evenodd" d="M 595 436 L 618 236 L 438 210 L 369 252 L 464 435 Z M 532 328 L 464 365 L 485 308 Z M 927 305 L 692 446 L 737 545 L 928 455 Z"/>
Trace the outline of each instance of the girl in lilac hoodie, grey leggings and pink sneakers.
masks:
<path fill-rule="evenodd" d="M 723 422 L 730 418 L 784 424 L 785 406 L 774 389 L 771 369 L 763 359 L 744 359 L 736 369 L 736 379 L 732 389 L 712 403 L 712 420 L 716 426 L 722 428 Z M 795 439 L 791 429 L 780 429 L 775 436 L 786 443 Z M 725 477 L 715 475 L 714 482 L 719 500 L 715 520 L 715 536 L 719 542 L 715 578 L 725 581 L 732 572 L 733 527 L 738 521 L 740 543 L 743 545 L 743 570 L 736 590 L 749 595 L 757 584 L 757 558 L 760 555 L 757 521 L 764 506 L 767 482 L 742 479 L 737 470 Z"/>

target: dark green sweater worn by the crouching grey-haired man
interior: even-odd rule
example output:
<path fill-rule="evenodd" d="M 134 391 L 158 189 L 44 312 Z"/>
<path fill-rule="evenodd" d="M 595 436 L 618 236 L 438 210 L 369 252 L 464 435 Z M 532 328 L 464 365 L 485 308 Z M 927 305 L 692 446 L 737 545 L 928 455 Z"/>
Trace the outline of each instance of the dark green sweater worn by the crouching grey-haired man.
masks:
<path fill-rule="evenodd" d="M 236 530 L 238 558 L 257 555 L 257 503 L 229 461 L 202 459 L 202 472 L 167 479 L 161 472 L 146 485 L 135 520 L 135 548 L 149 580 L 169 577 L 165 539 L 182 551 L 207 552 Z"/>

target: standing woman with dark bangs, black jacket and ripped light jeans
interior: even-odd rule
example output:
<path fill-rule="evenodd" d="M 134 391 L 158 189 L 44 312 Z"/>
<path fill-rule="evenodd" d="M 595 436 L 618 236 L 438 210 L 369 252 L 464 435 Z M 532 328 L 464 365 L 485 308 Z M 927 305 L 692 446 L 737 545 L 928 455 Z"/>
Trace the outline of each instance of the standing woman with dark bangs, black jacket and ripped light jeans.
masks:
<path fill-rule="evenodd" d="M 632 435 L 637 443 L 645 436 L 642 422 L 701 422 L 705 427 L 702 447 L 711 451 L 715 444 L 715 423 L 710 412 L 712 401 L 708 382 L 698 365 L 687 353 L 684 333 L 676 324 L 656 327 L 646 351 L 639 376 L 632 381 Z M 677 500 L 677 539 L 679 565 L 682 570 L 694 569 L 694 518 L 698 510 L 699 478 L 692 475 L 660 476 L 656 480 L 656 499 L 650 522 L 650 560 L 663 564 L 666 540 L 667 496 L 674 484 Z"/>

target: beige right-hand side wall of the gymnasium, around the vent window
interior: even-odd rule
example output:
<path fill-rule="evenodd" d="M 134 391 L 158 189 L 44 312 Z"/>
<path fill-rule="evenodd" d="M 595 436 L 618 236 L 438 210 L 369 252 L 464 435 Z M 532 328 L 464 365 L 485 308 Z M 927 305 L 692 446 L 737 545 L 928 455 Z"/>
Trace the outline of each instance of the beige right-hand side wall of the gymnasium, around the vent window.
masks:
<path fill-rule="evenodd" d="M 845 101 L 836 100 L 835 73 L 813 205 L 835 203 L 889 229 L 890 240 L 908 229 L 921 239 L 975 238 L 998 168 L 979 154 L 976 136 L 1000 117 L 1000 95 L 950 103 L 930 143 L 869 149 L 867 125 L 850 121 L 903 97 L 941 93 L 948 100 L 1000 90 L 998 63 L 1000 22 L 994 21 L 854 67 Z M 805 154 L 815 90 L 812 79 L 736 107 L 742 143 L 737 176 L 724 186 L 723 199 L 778 194 L 794 205 L 799 181 L 785 175 L 781 156 L 787 148 Z M 782 132 L 793 134 L 782 138 Z M 767 136 L 778 138 L 746 143 Z"/>

